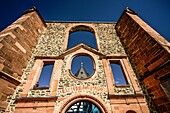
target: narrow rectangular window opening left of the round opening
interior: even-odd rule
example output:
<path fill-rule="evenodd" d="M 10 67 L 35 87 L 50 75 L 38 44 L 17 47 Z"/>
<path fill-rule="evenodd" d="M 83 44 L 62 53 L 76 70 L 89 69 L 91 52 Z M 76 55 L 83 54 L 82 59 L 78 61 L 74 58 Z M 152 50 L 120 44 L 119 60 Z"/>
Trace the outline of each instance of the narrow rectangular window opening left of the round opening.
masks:
<path fill-rule="evenodd" d="M 51 75 L 54 67 L 54 62 L 46 63 L 44 62 L 44 66 L 42 68 L 40 78 L 38 80 L 38 87 L 49 87 Z"/>

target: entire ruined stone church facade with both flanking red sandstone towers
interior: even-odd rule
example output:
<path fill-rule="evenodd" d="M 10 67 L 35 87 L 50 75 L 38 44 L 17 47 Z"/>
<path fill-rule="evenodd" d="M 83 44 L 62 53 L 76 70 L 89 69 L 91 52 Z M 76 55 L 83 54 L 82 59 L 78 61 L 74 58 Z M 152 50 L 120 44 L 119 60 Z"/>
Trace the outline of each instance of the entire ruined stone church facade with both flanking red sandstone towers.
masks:
<path fill-rule="evenodd" d="M 77 31 L 94 34 L 96 48 L 68 48 Z M 170 44 L 128 8 L 117 23 L 45 22 L 31 8 L 0 32 L 0 50 L 1 112 L 170 111 Z M 73 73 L 81 56 L 92 73 L 80 65 Z"/>

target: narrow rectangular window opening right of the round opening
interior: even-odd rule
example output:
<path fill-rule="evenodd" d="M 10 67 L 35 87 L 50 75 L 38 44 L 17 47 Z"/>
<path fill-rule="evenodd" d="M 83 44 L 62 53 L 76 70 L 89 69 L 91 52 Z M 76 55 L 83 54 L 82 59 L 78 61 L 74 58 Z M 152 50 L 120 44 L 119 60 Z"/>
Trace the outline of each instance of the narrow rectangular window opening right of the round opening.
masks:
<path fill-rule="evenodd" d="M 124 72 L 119 62 L 110 63 L 112 74 L 116 85 L 128 85 Z"/>

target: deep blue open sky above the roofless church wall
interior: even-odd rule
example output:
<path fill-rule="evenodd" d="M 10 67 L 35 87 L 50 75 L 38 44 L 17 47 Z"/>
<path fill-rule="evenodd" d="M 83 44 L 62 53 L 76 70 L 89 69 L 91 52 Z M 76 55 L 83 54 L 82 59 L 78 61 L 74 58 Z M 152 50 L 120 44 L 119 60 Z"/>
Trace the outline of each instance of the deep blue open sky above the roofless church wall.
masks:
<path fill-rule="evenodd" d="M 0 31 L 36 6 L 44 20 L 117 22 L 131 8 L 170 41 L 170 0 L 1 0 Z"/>

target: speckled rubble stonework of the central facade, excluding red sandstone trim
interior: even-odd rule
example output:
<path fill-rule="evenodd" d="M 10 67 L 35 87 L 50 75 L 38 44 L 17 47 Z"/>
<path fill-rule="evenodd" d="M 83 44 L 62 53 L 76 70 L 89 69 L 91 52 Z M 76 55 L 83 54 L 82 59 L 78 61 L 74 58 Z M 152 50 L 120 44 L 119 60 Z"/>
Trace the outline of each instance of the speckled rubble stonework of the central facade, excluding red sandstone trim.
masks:
<path fill-rule="evenodd" d="M 24 71 L 22 77 L 22 83 L 26 83 L 31 71 L 31 68 L 34 65 L 36 57 L 51 57 L 55 58 L 59 55 L 62 55 L 66 50 L 65 43 L 67 44 L 69 30 L 77 25 L 86 25 L 92 27 L 95 31 L 96 40 L 99 44 L 99 52 L 105 55 L 119 55 L 125 56 L 126 53 L 124 48 L 117 37 L 114 30 L 114 23 L 67 23 L 67 22 L 48 22 L 47 29 L 39 37 L 38 44 L 36 45 L 30 63 Z M 97 71 L 96 74 L 92 77 L 90 81 L 81 82 L 75 79 L 72 79 L 68 73 L 68 67 L 66 66 L 67 62 L 70 62 L 71 54 L 65 56 L 63 64 L 61 67 L 61 76 L 59 79 L 59 86 L 57 89 L 57 96 L 59 98 L 67 98 L 73 96 L 74 94 L 85 93 L 93 95 L 97 98 L 101 98 L 102 101 L 108 106 L 109 109 L 109 100 L 107 93 L 107 85 L 105 73 L 103 70 L 102 61 L 99 60 L 99 56 L 93 55 L 97 60 Z M 23 88 L 23 85 L 19 87 Z M 75 89 L 75 90 L 74 90 Z M 78 90 L 79 89 L 79 90 Z M 133 89 L 132 89 L 133 90 Z M 133 92 L 133 91 L 132 91 Z M 30 90 L 28 92 L 28 97 L 48 97 L 50 96 L 51 90 Z M 62 103 L 60 100 L 57 100 L 55 109 L 61 107 Z M 9 106 L 8 109 L 14 109 L 15 106 Z"/>

